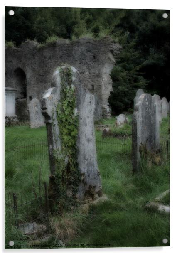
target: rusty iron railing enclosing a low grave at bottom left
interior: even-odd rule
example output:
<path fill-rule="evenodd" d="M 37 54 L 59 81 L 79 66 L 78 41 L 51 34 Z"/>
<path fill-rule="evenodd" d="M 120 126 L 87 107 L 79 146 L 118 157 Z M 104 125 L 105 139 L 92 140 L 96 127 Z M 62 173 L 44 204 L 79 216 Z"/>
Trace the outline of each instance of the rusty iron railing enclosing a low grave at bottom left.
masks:
<path fill-rule="evenodd" d="M 49 231 L 47 184 L 34 189 L 31 198 L 25 193 L 6 194 L 5 219 L 8 226 L 15 226 L 26 236 L 43 236 Z"/>

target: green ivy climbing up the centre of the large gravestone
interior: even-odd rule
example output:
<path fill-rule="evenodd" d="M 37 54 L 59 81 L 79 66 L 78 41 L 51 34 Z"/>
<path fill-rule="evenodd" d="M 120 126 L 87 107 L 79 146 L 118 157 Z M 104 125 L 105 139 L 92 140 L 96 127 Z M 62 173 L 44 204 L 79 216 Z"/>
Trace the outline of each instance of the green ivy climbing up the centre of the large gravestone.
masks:
<path fill-rule="evenodd" d="M 70 66 L 59 68 L 61 77 L 61 98 L 57 106 L 57 121 L 60 130 L 61 153 L 56 155 L 57 205 L 61 210 L 75 204 L 80 182 L 77 163 L 77 136 L 79 118 L 76 113 L 76 88 L 72 84 Z"/>

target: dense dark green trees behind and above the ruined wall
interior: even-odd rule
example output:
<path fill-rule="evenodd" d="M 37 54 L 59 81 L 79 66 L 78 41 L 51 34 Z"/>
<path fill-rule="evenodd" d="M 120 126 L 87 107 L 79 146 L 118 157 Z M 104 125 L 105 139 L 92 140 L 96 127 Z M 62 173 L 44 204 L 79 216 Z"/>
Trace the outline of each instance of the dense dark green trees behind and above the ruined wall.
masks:
<path fill-rule="evenodd" d="M 14 10 L 15 15 L 8 15 Z M 167 13 L 167 19 L 162 17 Z M 116 113 L 132 108 L 135 91 L 144 88 L 170 97 L 170 10 L 5 7 L 5 40 L 101 38 L 110 35 L 122 51 L 112 71 L 109 102 Z"/>

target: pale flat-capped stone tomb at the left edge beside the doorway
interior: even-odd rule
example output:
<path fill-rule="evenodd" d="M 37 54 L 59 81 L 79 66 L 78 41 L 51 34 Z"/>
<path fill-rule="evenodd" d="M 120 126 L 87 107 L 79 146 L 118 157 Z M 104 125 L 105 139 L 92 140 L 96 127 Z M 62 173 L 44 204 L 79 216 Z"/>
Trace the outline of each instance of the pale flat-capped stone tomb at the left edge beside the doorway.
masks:
<path fill-rule="evenodd" d="M 12 87 L 5 87 L 5 116 L 16 116 L 15 114 L 15 92 Z"/>

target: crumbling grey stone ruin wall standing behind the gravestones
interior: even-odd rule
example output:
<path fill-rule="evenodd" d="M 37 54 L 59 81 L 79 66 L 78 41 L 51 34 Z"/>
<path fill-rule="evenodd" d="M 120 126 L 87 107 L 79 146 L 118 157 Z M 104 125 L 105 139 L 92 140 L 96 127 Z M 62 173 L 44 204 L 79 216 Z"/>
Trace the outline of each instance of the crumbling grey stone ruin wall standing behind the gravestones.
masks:
<path fill-rule="evenodd" d="M 103 116 L 109 116 L 108 98 L 112 91 L 111 70 L 120 50 L 118 43 L 106 37 L 101 40 L 79 39 L 41 46 L 26 41 L 18 48 L 5 49 L 5 86 L 17 89 L 16 98 L 23 98 L 26 83 L 27 104 L 33 98 L 40 99 L 59 65 L 74 66 L 81 74 L 82 84 L 98 97 Z M 22 69 L 22 76 L 19 74 Z M 26 75 L 26 81 L 24 76 Z M 20 87 L 21 86 L 21 87 Z"/>

